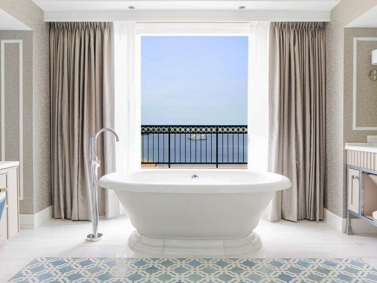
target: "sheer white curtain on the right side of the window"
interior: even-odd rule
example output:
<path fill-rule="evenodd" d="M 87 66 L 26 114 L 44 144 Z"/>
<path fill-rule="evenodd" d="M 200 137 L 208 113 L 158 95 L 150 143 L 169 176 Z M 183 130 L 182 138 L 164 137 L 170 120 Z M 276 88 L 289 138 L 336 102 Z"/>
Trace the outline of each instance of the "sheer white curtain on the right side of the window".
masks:
<path fill-rule="evenodd" d="M 267 171 L 268 35 L 270 22 L 250 22 L 248 71 L 248 169 Z"/>

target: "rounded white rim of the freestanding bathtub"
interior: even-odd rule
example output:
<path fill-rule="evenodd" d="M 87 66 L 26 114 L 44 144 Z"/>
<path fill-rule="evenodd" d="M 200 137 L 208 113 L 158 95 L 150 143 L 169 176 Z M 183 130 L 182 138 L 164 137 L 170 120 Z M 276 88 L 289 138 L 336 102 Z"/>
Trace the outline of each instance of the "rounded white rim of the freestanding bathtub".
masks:
<path fill-rule="evenodd" d="M 208 172 L 213 169 L 170 169 L 172 172 L 187 171 L 190 174 L 197 172 Z M 170 171 L 169 170 L 169 171 Z M 148 170 L 149 171 L 149 170 Z M 146 172 L 144 170 L 130 171 L 125 174 L 133 174 L 139 172 Z M 153 169 L 153 172 L 166 172 L 166 169 Z M 221 169 L 221 172 L 231 173 L 232 169 Z M 258 172 L 249 171 L 254 173 L 269 174 L 280 177 L 279 180 L 264 183 L 225 183 L 225 184 L 211 184 L 211 183 L 141 183 L 136 181 L 119 180 L 119 172 L 103 175 L 98 180 L 98 185 L 102 188 L 112 189 L 114 191 L 122 192 L 161 192 L 161 193 L 186 193 L 186 194 L 234 194 L 234 193 L 257 193 L 257 192 L 271 192 L 281 191 L 291 187 L 291 180 L 284 175 L 272 172 Z M 118 177 L 118 179 L 117 179 Z M 127 186 L 125 186 L 127 185 Z M 205 187 L 205 189 L 203 189 Z"/>

